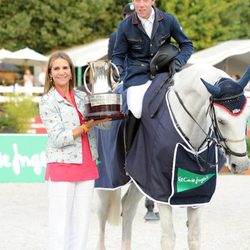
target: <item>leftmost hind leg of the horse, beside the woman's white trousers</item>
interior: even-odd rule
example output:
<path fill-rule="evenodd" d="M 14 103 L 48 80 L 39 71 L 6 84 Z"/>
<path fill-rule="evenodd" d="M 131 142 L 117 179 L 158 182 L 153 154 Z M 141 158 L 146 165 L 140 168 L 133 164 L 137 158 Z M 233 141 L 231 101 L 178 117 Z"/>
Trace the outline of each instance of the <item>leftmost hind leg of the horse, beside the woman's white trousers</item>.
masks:
<path fill-rule="evenodd" d="M 105 250 L 105 226 L 108 217 L 110 191 L 97 190 L 97 216 L 99 221 L 99 238 L 96 250 Z"/>

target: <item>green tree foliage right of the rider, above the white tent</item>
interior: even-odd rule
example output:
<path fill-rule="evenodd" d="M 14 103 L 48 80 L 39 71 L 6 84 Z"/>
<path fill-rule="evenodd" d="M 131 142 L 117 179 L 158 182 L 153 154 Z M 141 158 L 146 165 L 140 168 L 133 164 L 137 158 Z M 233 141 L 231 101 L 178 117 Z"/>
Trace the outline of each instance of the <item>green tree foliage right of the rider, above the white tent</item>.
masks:
<path fill-rule="evenodd" d="M 177 17 L 196 51 L 211 47 L 219 41 L 249 38 L 250 14 L 246 10 L 250 4 L 247 0 L 157 2 L 163 10 Z"/>

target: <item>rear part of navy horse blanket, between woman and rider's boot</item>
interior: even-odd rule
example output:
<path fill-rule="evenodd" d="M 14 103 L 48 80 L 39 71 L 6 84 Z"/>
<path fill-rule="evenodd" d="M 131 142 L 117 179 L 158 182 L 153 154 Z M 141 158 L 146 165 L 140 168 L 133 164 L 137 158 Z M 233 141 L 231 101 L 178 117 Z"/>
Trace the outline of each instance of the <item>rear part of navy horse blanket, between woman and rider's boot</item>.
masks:
<path fill-rule="evenodd" d="M 123 92 L 122 85 L 118 85 L 115 92 L 122 94 L 123 112 L 126 113 L 126 93 Z M 95 188 L 112 190 L 130 182 L 130 177 L 125 171 L 123 128 L 124 120 L 114 120 L 110 129 L 95 129 L 99 154 L 97 166 L 100 176 L 95 181 Z"/>

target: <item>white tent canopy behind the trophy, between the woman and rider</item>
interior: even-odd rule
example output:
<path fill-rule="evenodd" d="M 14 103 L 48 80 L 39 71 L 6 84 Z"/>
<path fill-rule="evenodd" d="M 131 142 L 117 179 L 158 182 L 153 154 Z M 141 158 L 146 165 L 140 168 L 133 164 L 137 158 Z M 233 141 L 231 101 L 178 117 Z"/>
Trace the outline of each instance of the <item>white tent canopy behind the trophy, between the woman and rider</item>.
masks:
<path fill-rule="evenodd" d="M 82 67 L 88 62 L 101 59 L 107 55 L 109 39 L 99 39 L 90 44 L 64 50 L 72 59 L 74 66 Z"/>

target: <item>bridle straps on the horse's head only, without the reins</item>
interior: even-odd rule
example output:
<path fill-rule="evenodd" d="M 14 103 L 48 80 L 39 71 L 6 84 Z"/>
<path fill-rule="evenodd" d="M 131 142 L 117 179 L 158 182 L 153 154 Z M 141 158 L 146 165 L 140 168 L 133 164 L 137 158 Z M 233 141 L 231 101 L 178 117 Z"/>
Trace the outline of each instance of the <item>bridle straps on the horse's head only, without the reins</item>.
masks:
<path fill-rule="evenodd" d="M 238 94 L 238 95 L 234 95 L 234 96 L 230 96 L 230 97 L 226 97 L 226 98 L 214 98 L 214 97 L 210 97 L 210 105 L 209 105 L 209 113 L 210 113 L 210 117 L 212 120 L 212 124 L 213 124 L 213 128 L 214 128 L 214 132 L 215 135 L 217 137 L 217 140 L 219 142 L 219 144 L 224 148 L 226 154 L 228 155 L 234 155 L 237 157 L 245 157 L 247 155 L 247 152 L 244 153 L 237 153 L 233 150 L 231 150 L 229 148 L 229 146 L 227 145 L 227 142 L 231 142 L 231 143 L 239 143 L 239 142 L 243 142 L 245 141 L 245 138 L 239 139 L 239 140 L 233 140 L 233 139 L 229 139 L 229 138 L 225 138 L 220 129 L 219 129 L 219 125 L 218 125 L 218 120 L 215 114 L 215 108 L 214 108 L 214 103 L 216 103 L 216 101 L 231 101 L 235 98 L 238 98 L 240 96 L 243 96 L 244 94 Z"/>

